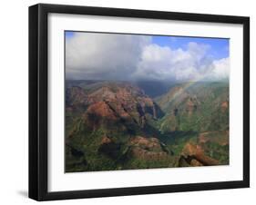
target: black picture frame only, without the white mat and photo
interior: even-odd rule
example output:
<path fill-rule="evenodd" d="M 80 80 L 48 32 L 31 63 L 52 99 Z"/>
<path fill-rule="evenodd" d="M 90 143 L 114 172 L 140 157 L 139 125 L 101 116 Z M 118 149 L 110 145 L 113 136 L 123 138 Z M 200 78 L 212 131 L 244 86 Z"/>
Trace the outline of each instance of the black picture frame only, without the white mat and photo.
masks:
<path fill-rule="evenodd" d="M 101 190 L 47 190 L 47 15 L 50 13 L 166 19 L 243 25 L 243 180 Z M 29 198 L 67 200 L 250 187 L 250 18 L 76 5 L 29 7 Z"/>

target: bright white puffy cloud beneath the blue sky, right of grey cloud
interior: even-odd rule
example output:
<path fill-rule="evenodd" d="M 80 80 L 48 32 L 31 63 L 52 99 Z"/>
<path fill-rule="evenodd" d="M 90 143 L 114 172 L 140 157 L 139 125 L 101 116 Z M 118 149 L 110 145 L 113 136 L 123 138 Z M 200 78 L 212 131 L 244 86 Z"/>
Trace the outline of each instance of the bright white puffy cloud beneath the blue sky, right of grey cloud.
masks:
<path fill-rule="evenodd" d="M 209 45 L 189 43 L 186 50 L 174 49 L 158 44 L 144 47 L 134 78 L 149 80 L 197 81 L 208 77 L 215 68 L 207 54 Z M 216 76 L 218 73 L 214 73 Z"/>

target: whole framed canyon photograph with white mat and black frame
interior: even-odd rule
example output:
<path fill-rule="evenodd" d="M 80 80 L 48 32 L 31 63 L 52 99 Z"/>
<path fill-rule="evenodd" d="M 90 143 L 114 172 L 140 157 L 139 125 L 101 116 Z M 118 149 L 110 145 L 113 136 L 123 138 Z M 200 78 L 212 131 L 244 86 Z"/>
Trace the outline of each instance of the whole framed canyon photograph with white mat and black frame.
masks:
<path fill-rule="evenodd" d="M 29 7 L 29 197 L 250 186 L 250 19 Z"/>

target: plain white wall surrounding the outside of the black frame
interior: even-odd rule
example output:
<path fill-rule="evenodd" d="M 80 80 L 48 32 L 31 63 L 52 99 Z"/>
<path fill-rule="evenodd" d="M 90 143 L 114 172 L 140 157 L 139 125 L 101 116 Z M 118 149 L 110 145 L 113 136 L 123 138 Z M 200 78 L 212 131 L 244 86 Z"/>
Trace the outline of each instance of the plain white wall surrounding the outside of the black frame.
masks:
<path fill-rule="evenodd" d="M 28 69 L 27 69 L 27 30 L 28 5 L 38 1 L 2 1 L 0 32 L 0 203 L 33 204 L 27 194 L 27 142 L 28 142 Z M 209 13 L 217 15 L 251 16 L 251 189 L 212 190 L 186 193 L 154 194 L 132 197 L 116 197 L 90 200 L 55 201 L 55 204 L 242 204 L 255 200 L 256 193 L 256 151 L 253 144 L 256 140 L 256 76 L 254 67 L 256 13 L 253 1 L 223 0 L 90 0 L 90 1 L 42 1 L 41 3 L 67 5 L 94 5 L 108 7 L 127 7 L 137 9 L 166 10 L 175 12 Z M 253 46 L 254 45 L 254 46 Z M 254 82 L 252 82 L 254 80 Z M 193 176 L 191 176 L 193 177 Z"/>

